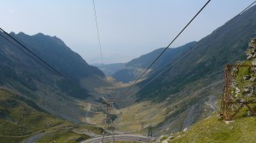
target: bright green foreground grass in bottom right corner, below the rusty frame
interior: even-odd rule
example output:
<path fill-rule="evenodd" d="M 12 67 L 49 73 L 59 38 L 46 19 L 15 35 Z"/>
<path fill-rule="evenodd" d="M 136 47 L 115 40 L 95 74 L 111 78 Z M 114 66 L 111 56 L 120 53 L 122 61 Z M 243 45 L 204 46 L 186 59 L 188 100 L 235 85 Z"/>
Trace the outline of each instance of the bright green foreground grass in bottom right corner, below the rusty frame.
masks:
<path fill-rule="evenodd" d="M 256 117 L 240 114 L 234 123 L 227 124 L 214 115 L 195 123 L 185 132 L 173 134 L 174 139 L 170 142 L 255 142 L 255 134 Z"/>

